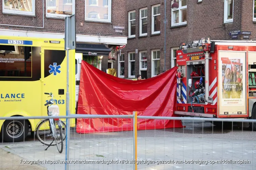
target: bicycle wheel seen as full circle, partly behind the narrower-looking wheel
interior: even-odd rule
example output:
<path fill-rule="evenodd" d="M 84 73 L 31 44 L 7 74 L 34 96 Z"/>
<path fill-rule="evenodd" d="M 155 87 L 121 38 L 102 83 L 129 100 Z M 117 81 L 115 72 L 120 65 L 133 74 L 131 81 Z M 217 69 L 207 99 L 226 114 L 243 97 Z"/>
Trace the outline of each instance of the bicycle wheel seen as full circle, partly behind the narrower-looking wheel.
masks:
<path fill-rule="evenodd" d="M 66 134 L 67 134 L 67 131 L 66 131 L 66 124 L 61 121 L 61 124 L 62 124 L 62 133 L 63 133 L 63 139 L 62 140 L 65 140 L 66 138 Z M 36 132 L 36 136 L 38 138 L 38 140 L 43 143 L 44 145 L 47 145 L 49 146 L 51 144 L 51 142 L 53 141 L 53 133 L 50 129 L 50 122 L 49 122 L 49 119 L 44 119 L 42 120 L 38 126 L 37 126 L 37 130 L 35 131 Z M 58 128 L 58 126 L 57 126 Z M 51 146 L 54 146 L 56 145 L 55 142 L 53 142 L 51 144 Z"/>

